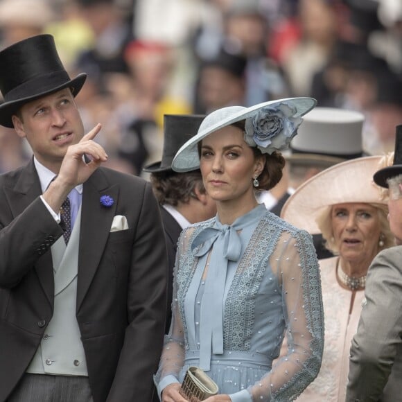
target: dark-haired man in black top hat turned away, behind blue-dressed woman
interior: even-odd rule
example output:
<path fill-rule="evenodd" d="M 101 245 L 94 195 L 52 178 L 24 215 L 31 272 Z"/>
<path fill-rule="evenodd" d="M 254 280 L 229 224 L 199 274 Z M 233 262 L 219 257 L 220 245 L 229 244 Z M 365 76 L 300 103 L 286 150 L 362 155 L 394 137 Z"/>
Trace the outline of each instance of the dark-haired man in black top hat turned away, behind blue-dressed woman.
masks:
<path fill-rule="evenodd" d="M 205 191 L 200 169 L 178 173 L 171 168 L 176 152 L 188 139 L 197 134 L 203 119 L 202 115 L 165 114 L 161 161 L 143 168 L 143 171 L 150 173 L 150 182 L 159 201 L 168 249 L 166 333 L 171 324 L 173 268 L 180 233 L 190 224 L 207 220 L 216 214 L 216 202 Z"/>

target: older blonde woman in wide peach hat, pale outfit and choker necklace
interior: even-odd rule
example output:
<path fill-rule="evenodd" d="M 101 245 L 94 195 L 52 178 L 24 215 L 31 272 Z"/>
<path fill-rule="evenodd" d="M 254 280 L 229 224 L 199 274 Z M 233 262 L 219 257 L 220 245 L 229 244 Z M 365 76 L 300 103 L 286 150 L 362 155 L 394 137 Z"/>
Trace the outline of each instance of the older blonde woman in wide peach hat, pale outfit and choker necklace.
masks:
<path fill-rule="evenodd" d="M 387 204 L 372 182 L 380 162 L 380 156 L 360 157 L 327 168 L 302 184 L 281 211 L 292 225 L 322 233 L 326 247 L 335 254 L 320 260 L 322 366 L 297 401 L 344 402 L 349 349 L 365 300 L 367 270 L 378 252 L 394 244 Z"/>

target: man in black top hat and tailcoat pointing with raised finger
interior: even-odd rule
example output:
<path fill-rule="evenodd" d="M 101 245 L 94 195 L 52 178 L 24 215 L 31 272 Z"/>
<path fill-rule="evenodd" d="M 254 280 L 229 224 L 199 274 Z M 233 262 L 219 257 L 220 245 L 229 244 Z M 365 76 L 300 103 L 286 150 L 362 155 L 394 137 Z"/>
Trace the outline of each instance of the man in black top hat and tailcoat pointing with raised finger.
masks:
<path fill-rule="evenodd" d="M 0 52 L 0 124 L 33 150 L 0 177 L 0 401 L 150 401 L 167 257 L 145 180 L 100 166 L 51 35 Z"/>

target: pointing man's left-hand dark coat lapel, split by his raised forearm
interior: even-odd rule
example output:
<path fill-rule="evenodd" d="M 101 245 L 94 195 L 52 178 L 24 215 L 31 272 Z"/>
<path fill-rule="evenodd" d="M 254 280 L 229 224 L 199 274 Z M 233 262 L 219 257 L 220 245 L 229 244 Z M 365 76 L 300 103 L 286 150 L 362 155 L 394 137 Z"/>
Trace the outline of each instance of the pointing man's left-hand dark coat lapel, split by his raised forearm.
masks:
<path fill-rule="evenodd" d="M 42 194 L 40 181 L 37 175 L 33 159 L 22 169 L 19 179 L 13 188 L 6 188 L 8 205 L 11 209 L 12 218 L 16 218 L 26 209 L 37 197 Z M 53 263 L 51 252 L 46 252 L 35 264 L 35 271 L 41 283 L 41 286 L 53 306 Z"/>

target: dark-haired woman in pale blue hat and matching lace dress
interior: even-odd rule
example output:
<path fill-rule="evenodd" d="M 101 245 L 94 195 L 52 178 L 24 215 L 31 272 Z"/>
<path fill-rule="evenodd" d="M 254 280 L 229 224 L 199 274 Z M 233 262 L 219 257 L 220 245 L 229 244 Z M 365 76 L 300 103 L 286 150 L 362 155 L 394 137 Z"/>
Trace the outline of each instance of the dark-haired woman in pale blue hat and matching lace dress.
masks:
<path fill-rule="evenodd" d="M 164 402 L 185 402 L 189 367 L 218 385 L 206 401 L 291 401 L 320 370 L 323 314 L 311 236 L 256 202 L 282 175 L 312 98 L 288 98 L 209 114 L 172 167 L 199 167 L 217 215 L 182 232 L 173 321 L 155 376 Z M 279 356 L 283 335 L 288 353 Z"/>

